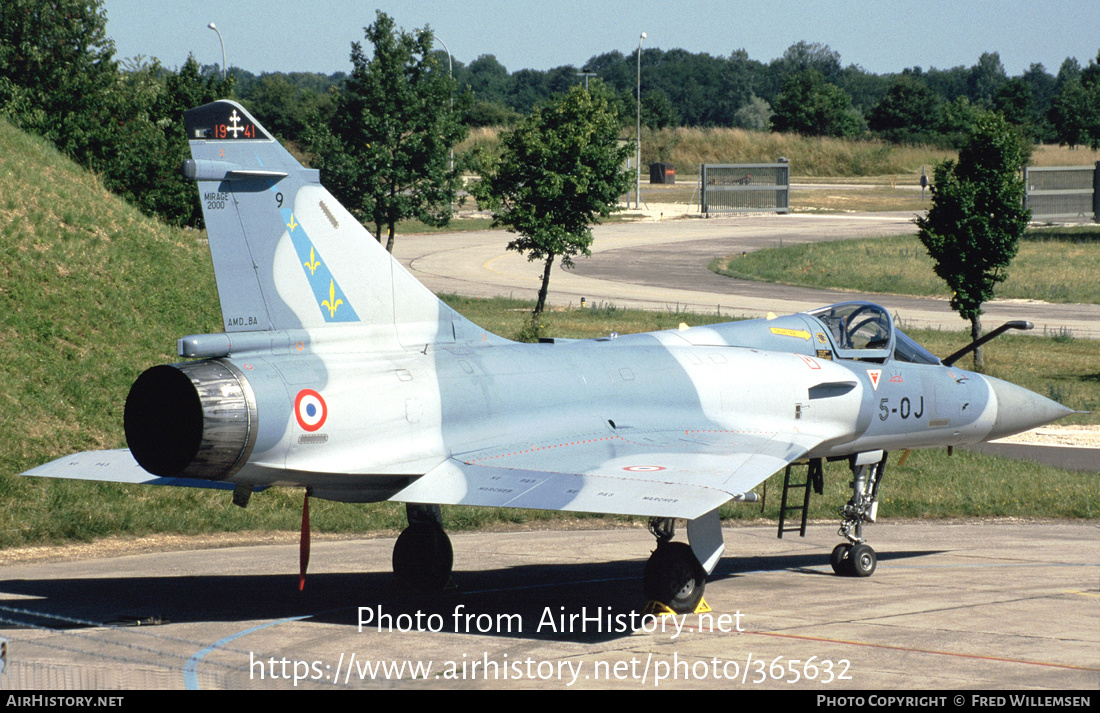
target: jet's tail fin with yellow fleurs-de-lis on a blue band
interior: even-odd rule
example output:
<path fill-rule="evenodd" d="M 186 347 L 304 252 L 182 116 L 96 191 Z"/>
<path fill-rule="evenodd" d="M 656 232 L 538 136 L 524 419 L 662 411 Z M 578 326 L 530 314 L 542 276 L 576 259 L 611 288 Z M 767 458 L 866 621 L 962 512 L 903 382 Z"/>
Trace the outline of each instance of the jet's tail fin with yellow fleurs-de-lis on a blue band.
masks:
<path fill-rule="evenodd" d="M 184 122 L 227 332 L 393 325 L 424 343 L 464 331 L 243 107 L 216 101 Z"/>

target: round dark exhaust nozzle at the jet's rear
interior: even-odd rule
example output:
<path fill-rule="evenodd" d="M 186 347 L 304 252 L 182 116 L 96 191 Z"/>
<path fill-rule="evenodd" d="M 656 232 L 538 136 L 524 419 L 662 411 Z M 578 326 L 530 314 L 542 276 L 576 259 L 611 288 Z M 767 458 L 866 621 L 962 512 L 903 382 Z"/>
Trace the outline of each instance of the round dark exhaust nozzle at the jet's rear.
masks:
<path fill-rule="evenodd" d="M 252 453 L 256 401 L 229 362 L 164 364 L 130 387 L 123 421 L 130 452 L 150 473 L 222 480 Z"/>

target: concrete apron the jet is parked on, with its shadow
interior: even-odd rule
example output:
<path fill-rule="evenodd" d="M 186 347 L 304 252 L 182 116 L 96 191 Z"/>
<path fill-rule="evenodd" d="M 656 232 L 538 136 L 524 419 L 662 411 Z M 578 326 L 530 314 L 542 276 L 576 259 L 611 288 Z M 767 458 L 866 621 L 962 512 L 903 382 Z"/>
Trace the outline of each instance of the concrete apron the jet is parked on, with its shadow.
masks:
<path fill-rule="evenodd" d="M 833 574 L 835 531 L 727 528 L 711 615 L 660 622 L 640 618 L 641 528 L 453 535 L 439 596 L 395 582 L 392 537 L 315 544 L 300 593 L 294 545 L 7 566 L 0 689 L 1094 694 L 1097 524 L 880 520 L 869 579 Z"/>

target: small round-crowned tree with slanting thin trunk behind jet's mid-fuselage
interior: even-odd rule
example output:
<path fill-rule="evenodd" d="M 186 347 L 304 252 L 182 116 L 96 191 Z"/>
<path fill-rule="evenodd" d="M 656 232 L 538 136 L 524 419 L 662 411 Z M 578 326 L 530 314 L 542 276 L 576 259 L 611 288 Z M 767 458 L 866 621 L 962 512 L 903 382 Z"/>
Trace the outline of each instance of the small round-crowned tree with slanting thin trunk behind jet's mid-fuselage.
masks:
<path fill-rule="evenodd" d="M 493 226 L 518 237 L 508 250 L 542 260 L 542 285 L 531 315 L 538 328 L 554 260 L 573 266 L 573 256 L 591 254 L 592 226 L 618 209 L 632 174 L 623 169 L 634 153 L 619 145 L 619 121 L 602 83 L 591 91 L 574 86 L 538 107 L 501 138 L 498 163 L 483 165 L 471 190 L 492 209 Z"/>

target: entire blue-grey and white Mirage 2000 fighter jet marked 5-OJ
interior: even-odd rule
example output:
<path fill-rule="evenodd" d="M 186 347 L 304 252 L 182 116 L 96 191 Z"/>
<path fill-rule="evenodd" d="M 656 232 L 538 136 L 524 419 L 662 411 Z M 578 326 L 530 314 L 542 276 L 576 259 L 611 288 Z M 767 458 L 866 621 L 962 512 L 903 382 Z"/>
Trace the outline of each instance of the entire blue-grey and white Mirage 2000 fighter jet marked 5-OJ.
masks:
<path fill-rule="evenodd" d="M 832 562 L 867 575 L 861 525 L 888 451 L 1071 413 L 945 364 L 861 301 L 516 343 L 437 299 L 241 106 L 206 105 L 185 123 L 226 331 L 184 337 L 194 361 L 138 379 L 128 450 L 28 475 L 224 487 L 238 504 L 274 485 L 305 487 L 307 506 L 406 503 L 394 570 L 424 588 L 450 579 L 440 505 L 649 517 L 647 596 L 690 612 L 724 550 L 718 506 L 755 500 L 778 470 L 805 461 L 820 481 L 824 460 L 848 463 L 847 541 Z M 674 518 L 689 542 L 672 541 Z"/>

